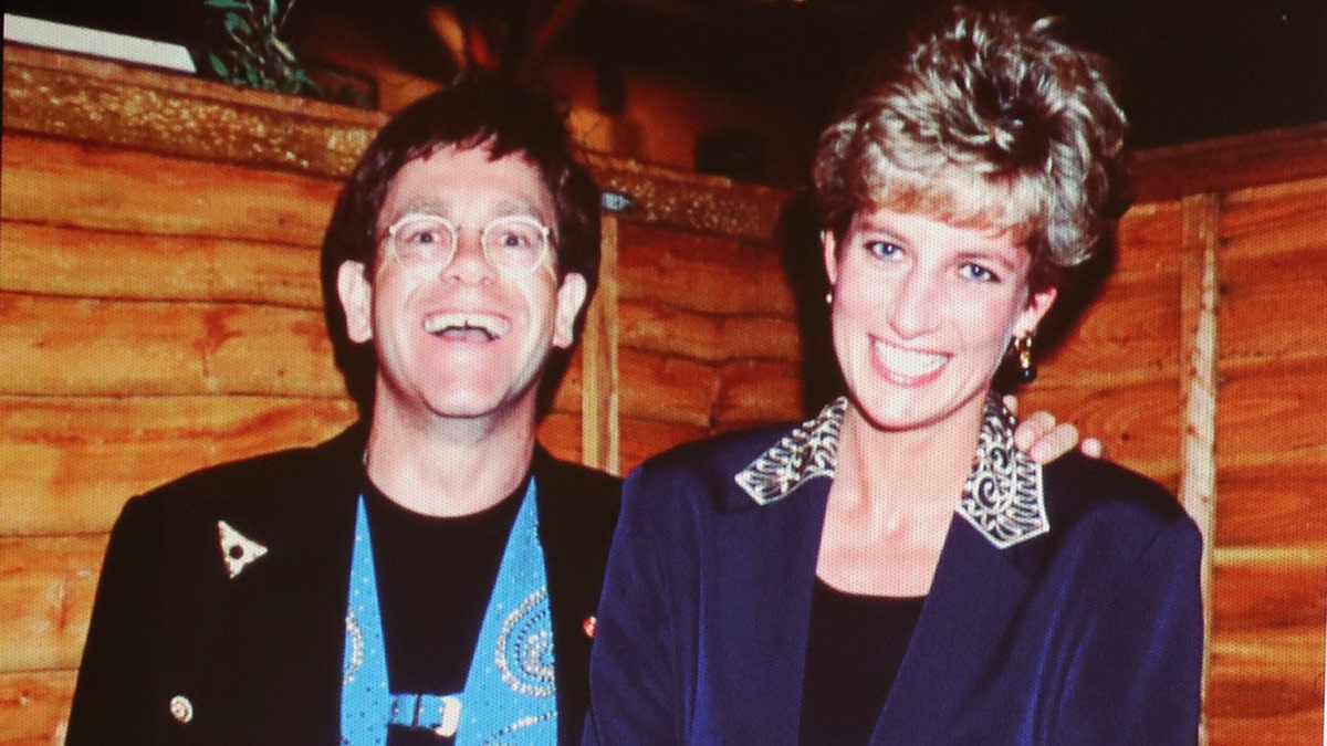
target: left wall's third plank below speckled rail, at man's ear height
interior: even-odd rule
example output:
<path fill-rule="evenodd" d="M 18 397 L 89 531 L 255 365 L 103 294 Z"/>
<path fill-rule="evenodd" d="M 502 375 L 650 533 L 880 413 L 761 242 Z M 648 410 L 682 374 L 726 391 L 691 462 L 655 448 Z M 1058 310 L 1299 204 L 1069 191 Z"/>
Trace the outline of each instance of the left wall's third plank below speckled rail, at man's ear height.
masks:
<path fill-rule="evenodd" d="M 344 396 L 321 311 L 0 293 L 0 389 Z"/>

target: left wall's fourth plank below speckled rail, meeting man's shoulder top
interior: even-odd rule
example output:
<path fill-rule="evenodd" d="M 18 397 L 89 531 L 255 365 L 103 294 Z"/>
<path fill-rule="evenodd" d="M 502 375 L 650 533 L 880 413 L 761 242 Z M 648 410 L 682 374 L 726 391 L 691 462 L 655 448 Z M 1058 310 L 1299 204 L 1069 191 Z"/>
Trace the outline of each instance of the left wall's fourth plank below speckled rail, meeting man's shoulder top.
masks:
<path fill-rule="evenodd" d="M 107 531 L 130 495 L 353 419 L 348 400 L 0 396 L 0 535 Z"/>

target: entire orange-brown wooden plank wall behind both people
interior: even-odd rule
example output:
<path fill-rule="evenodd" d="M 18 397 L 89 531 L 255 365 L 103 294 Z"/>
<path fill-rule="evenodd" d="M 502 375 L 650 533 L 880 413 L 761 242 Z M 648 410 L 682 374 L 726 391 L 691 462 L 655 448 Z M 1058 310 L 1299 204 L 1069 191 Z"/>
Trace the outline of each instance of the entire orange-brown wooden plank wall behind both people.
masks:
<path fill-rule="evenodd" d="M 5 48 L 0 745 L 61 741 L 129 495 L 354 417 L 322 332 L 317 246 L 382 121 Z M 803 366 L 828 361 L 824 340 L 798 333 L 815 269 L 786 272 L 791 195 L 587 159 L 633 207 L 605 216 L 602 288 L 543 439 L 625 471 L 798 417 Z M 1120 244 L 1023 406 L 1103 437 L 1205 527 L 1210 742 L 1316 742 L 1327 127 L 1143 154 Z"/>

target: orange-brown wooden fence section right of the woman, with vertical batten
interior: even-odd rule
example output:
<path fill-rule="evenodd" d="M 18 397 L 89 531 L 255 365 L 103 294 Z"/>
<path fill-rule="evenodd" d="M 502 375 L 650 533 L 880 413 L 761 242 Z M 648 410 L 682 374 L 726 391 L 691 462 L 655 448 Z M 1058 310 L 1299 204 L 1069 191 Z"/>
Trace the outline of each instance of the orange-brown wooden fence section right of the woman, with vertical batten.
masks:
<path fill-rule="evenodd" d="M 1140 154 L 1103 296 L 1023 406 L 1176 490 L 1208 538 L 1206 734 L 1319 743 L 1327 126 Z"/>

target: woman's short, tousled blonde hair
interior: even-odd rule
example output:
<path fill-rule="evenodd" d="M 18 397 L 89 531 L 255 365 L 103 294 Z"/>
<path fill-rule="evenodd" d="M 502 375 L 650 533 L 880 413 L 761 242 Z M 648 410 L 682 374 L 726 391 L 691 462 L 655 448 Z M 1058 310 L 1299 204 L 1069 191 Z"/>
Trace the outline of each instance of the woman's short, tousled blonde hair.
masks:
<path fill-rule="evenodd" d="M 1034 285 L 1083 263 L 1124 203 L 1128 130 L 1104 58 L 1027 7 L 955 7 L 821 135 L 823 228 L 884 207 L 1014 231 Z"/>

